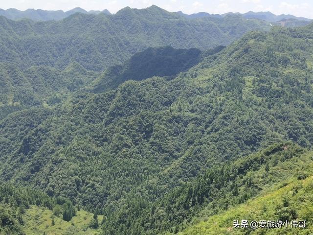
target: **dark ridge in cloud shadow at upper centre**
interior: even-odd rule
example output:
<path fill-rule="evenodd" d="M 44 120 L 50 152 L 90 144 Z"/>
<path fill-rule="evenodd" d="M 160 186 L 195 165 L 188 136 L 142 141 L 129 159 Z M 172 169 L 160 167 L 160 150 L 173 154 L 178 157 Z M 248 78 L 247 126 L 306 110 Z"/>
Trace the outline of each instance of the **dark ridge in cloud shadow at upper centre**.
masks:
<path fill-rule="evenodd" d="M 222 49 L 223 47 L 219 47 Z M 214 52 L 218 52 L 215 50 Z M 212 52 L 213 53 L 213 52 Z M 148 48 L 138 52 L 123 65 L 108 68 L 90 85 L 89 90 L 101 93 L 127 80 L 143 80 L 153 76 L 173 76 L 188 71 L 202 58 L 199 49 L 174 49 L 173 47 Z"/>

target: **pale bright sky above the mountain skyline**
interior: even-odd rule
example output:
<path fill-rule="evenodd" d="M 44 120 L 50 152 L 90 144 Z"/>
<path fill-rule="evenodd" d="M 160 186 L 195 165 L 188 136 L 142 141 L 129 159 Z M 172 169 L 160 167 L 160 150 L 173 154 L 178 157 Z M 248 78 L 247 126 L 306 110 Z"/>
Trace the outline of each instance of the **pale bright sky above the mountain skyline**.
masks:
<path fill-rule="evenodd" d="M 153 4 L 171 12 L 187 14 L 270 11 L 276 15 L 284 13 L 313 19 L 313 0 L 0 0 L 2 9 L 67 11 L 81 7 L 85 10 L 108 9 L 112 13 L 126 6 L 140 9 Z"/>

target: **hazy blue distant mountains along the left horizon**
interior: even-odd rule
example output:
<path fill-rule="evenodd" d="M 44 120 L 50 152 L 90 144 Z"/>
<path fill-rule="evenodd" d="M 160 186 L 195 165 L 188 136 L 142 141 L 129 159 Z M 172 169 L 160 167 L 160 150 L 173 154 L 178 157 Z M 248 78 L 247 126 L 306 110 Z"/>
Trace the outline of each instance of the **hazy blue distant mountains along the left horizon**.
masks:
<path fill-rule="evenodd" d="M 21 20 L 21 19 L 31 19 L 33 21 L 51 21 L 51 20 L 62 20 L 72 14 L 75 13 L 83 13 L 83 14 L 99 14 L 104 13 L 107 15 L 111 15 L 111 13 L 105 9 L 103 11 L 86 11 L 80 7 L 76 7 L 69 11 L 47 11 L 47 10 L 35 10 L 35 9 L 27 9 L 25 11 L 20 11 L 14 8 L 10 8 L 7 10 L 0 9 L 0 16 L 4 16 L 10 20 Z"/>

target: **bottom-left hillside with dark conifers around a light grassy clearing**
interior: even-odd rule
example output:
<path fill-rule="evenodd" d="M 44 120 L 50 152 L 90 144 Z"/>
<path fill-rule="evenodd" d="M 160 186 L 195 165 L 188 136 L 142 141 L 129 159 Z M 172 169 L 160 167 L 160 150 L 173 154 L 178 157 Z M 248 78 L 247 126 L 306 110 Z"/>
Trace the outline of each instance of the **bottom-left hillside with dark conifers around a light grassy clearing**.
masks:
<path fill-rule="evenodd" d="M 76 211 L 66 198 L 50 198 L 31 188 L 0 186 L 1 235 L 95 235 L 103 216 Z"/>

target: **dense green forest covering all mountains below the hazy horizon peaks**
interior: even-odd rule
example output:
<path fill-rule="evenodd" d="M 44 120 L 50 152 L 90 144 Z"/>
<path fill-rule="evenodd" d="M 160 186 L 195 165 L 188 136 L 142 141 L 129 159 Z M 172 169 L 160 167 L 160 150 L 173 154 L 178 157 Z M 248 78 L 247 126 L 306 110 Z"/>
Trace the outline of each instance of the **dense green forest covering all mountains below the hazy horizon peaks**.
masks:
<path fill-rule="evenodd" d="M 0 21 L 0 234 L 53 215 L 64 234 L 252 235 L 226 231 L 229 211 L 273 195 L 268 216 L 313 222 L 312 23 L 156 6 Z M 49 224 L 30 232 L 36 210 Z"/>

